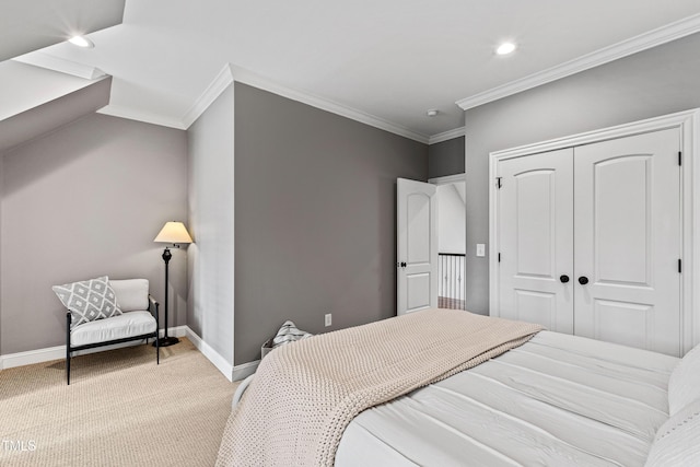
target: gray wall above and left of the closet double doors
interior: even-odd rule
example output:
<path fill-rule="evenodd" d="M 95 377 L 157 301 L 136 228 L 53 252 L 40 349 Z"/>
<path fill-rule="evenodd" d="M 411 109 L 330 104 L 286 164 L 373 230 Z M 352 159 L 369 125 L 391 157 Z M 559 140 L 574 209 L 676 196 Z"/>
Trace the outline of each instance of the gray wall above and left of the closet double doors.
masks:
<path fill-rule="evenodd" d="M 700 107 L 698 50 L 700 34 L 467 110 L 467 250 L 489 240 L 490 152 Z M 467 261 L 467 310 L 488 313 L 488 279 Z"/>

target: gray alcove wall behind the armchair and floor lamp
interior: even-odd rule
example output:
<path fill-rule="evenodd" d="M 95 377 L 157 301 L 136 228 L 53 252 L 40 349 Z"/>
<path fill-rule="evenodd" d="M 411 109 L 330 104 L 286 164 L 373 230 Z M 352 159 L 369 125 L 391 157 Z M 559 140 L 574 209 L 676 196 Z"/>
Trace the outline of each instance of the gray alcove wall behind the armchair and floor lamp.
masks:
<path fill-rule="evenodd" d="M 143 277 L 163 300 L 167 220 L 185 220 L 185 131 L 97 114 L 3 154 L 0 353 L 65 343 L 51 285 Z M 186 260 L 171 261 L 171 323 L 185 324 Z"/>

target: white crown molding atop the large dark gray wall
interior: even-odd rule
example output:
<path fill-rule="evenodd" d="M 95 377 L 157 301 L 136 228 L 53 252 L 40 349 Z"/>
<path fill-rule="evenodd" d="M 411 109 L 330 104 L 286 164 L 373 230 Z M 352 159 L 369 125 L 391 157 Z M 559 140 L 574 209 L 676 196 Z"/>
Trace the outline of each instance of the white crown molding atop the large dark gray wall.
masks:
<path fill-rule="evenodd" d="M 292 101 L 301 102 L 302 104 L 311 105 L 312 107 L 319 108 L 322 110 L 330 112 L 331 114 L 340 115 L 346 118 L 359 121 L 361 124 L 369 125 L 381 130 L 388 131 L 394 135 L 398 135 L 413 141 L 428 144 L 428 136 L 412 131 L 404 126 L 392 124 L 383 118 L 375 117 L 365 112 L 358 110 L 352 107 L 348 107 L 337 102 L 318 97 L 316 95 L 294 90 L 291 87 L 278 84 L 265 77 L 254 73 L 241 67 L 231 66 L 231 71 L 234 81 L 238 81 L 244 84 L 249 84 L 254 87 L 261 89 L 264 91 L 271 92 L 282 97 L 291 98 Z"/>

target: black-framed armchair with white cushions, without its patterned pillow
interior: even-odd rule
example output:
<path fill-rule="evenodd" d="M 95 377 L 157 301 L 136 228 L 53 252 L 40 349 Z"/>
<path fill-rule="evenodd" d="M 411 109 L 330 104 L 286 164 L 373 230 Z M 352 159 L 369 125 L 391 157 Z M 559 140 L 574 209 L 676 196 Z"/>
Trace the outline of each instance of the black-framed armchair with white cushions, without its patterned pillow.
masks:
<path fill-rule="evenodd" d="M 155 338 L 155 362 L 161 363 L 159 303 L 149 294 L 147 279 L 110 280 L 121 314 L 79 324 L 71 329 L 72 315 L 66 314 L 66 382 L 70 385 L 71 353 L 131 340 Z"/>

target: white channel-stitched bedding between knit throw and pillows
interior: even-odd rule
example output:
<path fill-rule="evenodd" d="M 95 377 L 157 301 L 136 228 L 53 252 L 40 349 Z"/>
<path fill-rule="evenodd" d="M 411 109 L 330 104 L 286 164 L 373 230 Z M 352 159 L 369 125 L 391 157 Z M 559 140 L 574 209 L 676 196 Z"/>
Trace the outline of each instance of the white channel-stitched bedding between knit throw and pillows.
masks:
<path fill-rule="evenodd" d="M 360 413 L 336 466 L 643 466 L 678 361 L 541 331 Z"/>

